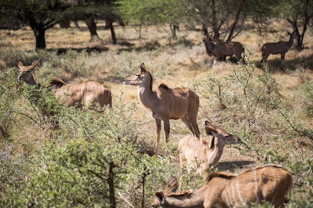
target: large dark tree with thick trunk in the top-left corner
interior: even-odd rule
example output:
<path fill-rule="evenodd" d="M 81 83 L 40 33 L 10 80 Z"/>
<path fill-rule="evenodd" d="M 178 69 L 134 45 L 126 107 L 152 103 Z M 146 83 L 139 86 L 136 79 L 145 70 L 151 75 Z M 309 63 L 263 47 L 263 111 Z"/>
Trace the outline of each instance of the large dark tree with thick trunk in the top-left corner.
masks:
<path fill-rule="evenodd" d="M 69 6 L 66 0 L 4 0 L 0 7 L 11 12 L 31 27 L 35 39 L 36 49 L 45 48 L 44 33 L 63 18 L 60 13 Z M 8 19 L 9 21 L 9 19 Z"/>

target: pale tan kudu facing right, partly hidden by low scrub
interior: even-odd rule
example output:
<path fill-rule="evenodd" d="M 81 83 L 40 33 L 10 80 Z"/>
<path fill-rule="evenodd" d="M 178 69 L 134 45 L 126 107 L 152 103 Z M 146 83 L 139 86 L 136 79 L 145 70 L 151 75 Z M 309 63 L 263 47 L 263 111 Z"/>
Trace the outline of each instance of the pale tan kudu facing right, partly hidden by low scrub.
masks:
<path fill-rule="evenodd" d="M 222 156 L 223 148 L 227 144 L 236 144 L 240 138 L 219 129 L 205 121 L 205 132 L 210 137 L 208 145 L 193 136 L 186 136 L 178 143 L 180 168 L 196 170 L 197 174 L 204 174 L 210 167 L 215 167 Z"/>

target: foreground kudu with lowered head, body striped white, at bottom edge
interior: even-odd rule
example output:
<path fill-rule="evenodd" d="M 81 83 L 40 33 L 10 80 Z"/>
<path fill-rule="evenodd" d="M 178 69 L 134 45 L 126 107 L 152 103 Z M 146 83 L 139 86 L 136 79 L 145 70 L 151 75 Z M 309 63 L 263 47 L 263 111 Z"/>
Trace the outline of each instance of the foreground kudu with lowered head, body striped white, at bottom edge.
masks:
<path fill-rule="evenodd" d="M 170 179 L 163 192 L 154 194 L 152 208 L 250 208 L 252 203 L 269 202 L 283 208 L 291 190 L 291 174 L 279 166 L 267 165 L 238 175 L 215 172 L 194 193 L 173 194 L 176 178 Z"/>

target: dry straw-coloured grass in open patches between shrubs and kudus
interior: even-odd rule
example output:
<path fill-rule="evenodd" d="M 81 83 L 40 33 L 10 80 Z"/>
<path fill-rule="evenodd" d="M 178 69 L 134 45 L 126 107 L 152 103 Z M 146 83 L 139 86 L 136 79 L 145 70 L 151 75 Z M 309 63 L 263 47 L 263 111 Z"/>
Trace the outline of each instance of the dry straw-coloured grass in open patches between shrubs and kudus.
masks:
<path fill-rule="evenodd" d="M 166 83 L 169 87 L 187 87 L 194 83 L 195 80 L 203 80 L 209 73 L 215 78 L 220 79 L 231 74 L 233 70 L 233 66 L 229 61 L 217 63 L 216 66 L 212 67 L 213 57 L 206 55 L 202 43 L 202 35 L 199 31 L 186 31 L 181 28 L 181 30 L 177 32 L 177 40 L 173 40 L 170 38 L 169 26 L 147 27 L 142 30 L 141 34 L 143 38 L 140 40 L 138 38 L 139 33 L 134 28 L 116 25 L 114 28 L 117 44 L 111 44 L 110 31 L 101 29 L 104 26 L 103 23 L 98 23 L 97 30 L 101 40 L 95 42 L 89 42 L 90 36 L 86 26 L 82 25 L 81 22 L 80 25 L 80 29 L 74 28 L 72 25 L 72 27 L 68 29 L 51 28 L 47 30 L 46 48 L 80 49 L 96 47 L 104 52 L 86 52 L 84 55 L 86 58 L 81 60 L 82 55 L 76 54 L 74 51 L 72 52 L 74 57 L 72 60 L 62 60 L 62 66 L 66 66 L 63 68 L 53 68 L 53 61 L 48 60 L 48 57 L 46 59 L 42 58 L 40 66 L 34 72 L 35 80 L 40 81 L 49 73 L 63 79 L 67 83 L 99 80 L 110 88 L 113 95 L 113 107 L 116 99 L 118 99 L 121 94 L 123 102 L 135 102 L 138 110 L 133 118 L 142 121 L 138 128 L 141 132 L 140 139 L 146 142 L 144 146 L 144 148 L 148 149 L 145 150 L 146 152 L 153 153 L 154 151 L 154 138 L 156 137 L 154 120 L 150 118 L 148 110 L 140 106 L 137 98 L 137 87 L 122 84 L 122 75 L 128 76 L 136 73 L 138 71 L 137 63 L 144 62 L 154 77 L 154 87 L 161 82 Z M 243 32 L 234 39 L 234 41 L 239 41 L 246 45 L 249 51 L 253 53 L 252 56 L 257 61 L 256 71 L 258 73 L 263 72 L 262 69 L 259 68 L 258 63 L 261 57 L 260 46 L 264 43 L 264 39 L 251 31 Z M 270 36 L 270 38 L 266 38 L 266 42 L 271 41 L 276 41 L 275 37 Z M 300 52 L 291 48 L 285 55 L 285 64 L 283 66 L 280 64 L 280 55 L 270 55 L 268 58 L 269 69 L 273 73 L 273 77 L 282 85 L 281 94 L 284 97 L 292 95 L 294 88 L 298 86 L 303 79 L 313 79 L 313 49 L 311 49 L 313 48 L 313 35 L 309 33 L 306 34 L 304 45 L 307 46 L 308 49 Z M 34 50 L 35 39 L 29 27 L 16 31 L 2 30 L 0 31 L 0 46 L 1 50 Z M 24 57 L 15 57 L 13 62 L 16 63 L 17 59 L 23 58 Z M 9 62 L 11 62 L 11 60 L 0 60 L 0 66 L 12 67 L 13 65 L 7 64 Z M 29 65 L 30 62 L 26 64 Z M 76 69 L 76 75 L 73 75 L 73 70 L 64 71 L 64 68 L 70 68 L 76 65 L 81 65 L 81 68 L 84 70 L 82 74 L 78 73 L 79 68 Z M 292 74 L 292 72 L 297 69 L 298 65 L 303 65 L 307 70 L 305 77 L 303 77 L 303 75 L 297 76 Z M 49 70 L 51 70 L 51 72 Z M 296 74 L 296 72 L 294 73 Z M 203 130 L 205 120 L 219 123 L 220 126 L 217 126 L 220 128 L 224 127 L 222 126 L 223 120 L 220 119 L 222 117 L 220 115 L 221 112 L 219 112 L 218 109 L 203 108 L 203 106 L 205 106 L 203 102 L 205 102 L 205 100 L 200 98 L 198 126 L 202 135 L 201 137 L 206 137 L 203 136 L 205 135 Z M 231 116 L 233 118 L 229 118 L 229 120 L 239 120 L 239 117 L 242 115 L 240 112 L 237 112 L 236 115 Z M 236 118 L 234 119 L 234 117 Z M 177 146 L 179 139 L 190 133 L 180 120 L 170 121 L 170 125 L 169 145 Z M 48 134 L 49 130 L 44 131 Z M 40 132 L 42 133 L 42 131 Z M 235 134 L 235 132 L 231 133 Z M 43 139 L 42 135 L 35 135 L 33 131 L 29 131 L 27 134 L 29 134 L 29 137 L 38 138 L 37 143 L 33 144 L 33 146 L 40 146 L 39 143 Z M 161 155 L 166 152 L 163 135 L 162 131 L 160 141 Z M 16 137 L 18 137 L 18 141 L 23 140 L 22 137 Z M 262 135 L 260 135 L 259 138 L 262 138 Z M 297 151 L 297 155 L 302 155 L 302 158 L 305 158 L 307 156 L 303 156 L 303 152 L 312 148 L 312 142 L 304 140 L 306 145 L 304 147 L 300 145 L 302 144 L 302 140 L 304 139 L 296 138 L 290 143 L 290 146 L 296 148 L 294 151 Z M 272 141 L 269 140 L 268 143 L 270 142 Z M 279 144 L 275 145 L 278 146 Z M 310 154 L 312 153 L 310 152 Z M 171 162 L 178 167 L 178 153 L 175 152 L 172 156 L 173 159 Z M 218 169 L 221 171 L 229 170 L 231 172 L 237 172 L 240 169 L 252 168 L 259 163 L 259 158 L 257 157 L 255 152 L 249 151 L 248 149 L 242 153 L 242 151 L 233 146 L 227 146 L 218 164 Z"/>

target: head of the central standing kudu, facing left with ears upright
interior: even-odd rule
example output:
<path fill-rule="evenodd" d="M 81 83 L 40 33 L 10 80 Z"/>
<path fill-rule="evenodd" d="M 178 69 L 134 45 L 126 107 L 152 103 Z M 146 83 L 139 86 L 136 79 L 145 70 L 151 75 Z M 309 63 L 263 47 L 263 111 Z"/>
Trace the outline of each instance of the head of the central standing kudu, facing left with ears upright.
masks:
<path fill-rule="evenodd" d="M 139 64 L 138 67 L 140 71 L 138 71 L 136 74 L 133 74 L 129 77 L 126 77 L 123 80 L 123 83 L 128 85 L 140 85 L 145 82 L 151 82 L 152 83 L 152 77 L 150 73 L 148 72 L 147 68 L 145 67 L 144 63 Z"/>

